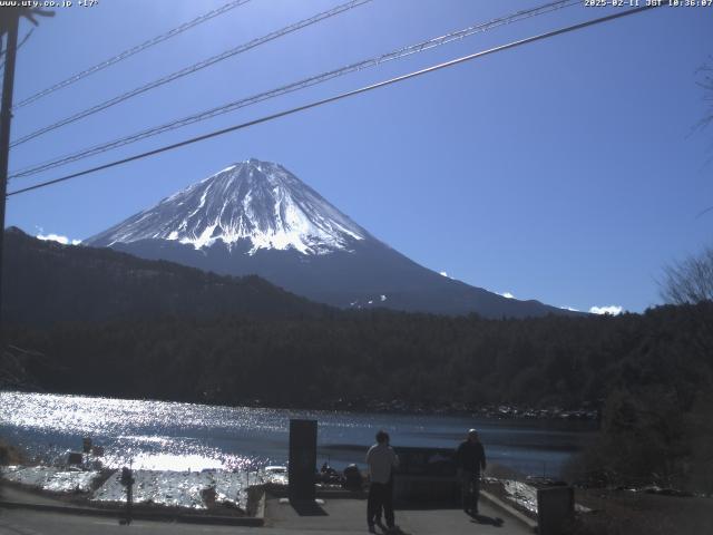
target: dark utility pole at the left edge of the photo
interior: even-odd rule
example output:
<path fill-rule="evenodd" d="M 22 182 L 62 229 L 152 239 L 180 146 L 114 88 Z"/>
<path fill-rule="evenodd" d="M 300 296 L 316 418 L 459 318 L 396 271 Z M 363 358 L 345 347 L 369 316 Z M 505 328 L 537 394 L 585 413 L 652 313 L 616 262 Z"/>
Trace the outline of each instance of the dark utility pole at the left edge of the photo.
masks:
<path fill-rule="evenodd" d="M 12 87 L 14 85 L 14 59 L 18 49 L 19 9 L 2 13 L 3 29 L 8 36 L 4 43 L 4 72 L 2 77 L 2 107 L 0 108 L 0 329 L 2 329 L 2 264 L 4 247 L 4 205 L 8 193 L 8 164 L 10 160 L 10 124 L 12 123 Z M 7 18 L 6 18 L 7 17 Z M 3 337 L 4 338 L 4 337 Z M 4 349 L 4 348 L 2 348 Z"/>

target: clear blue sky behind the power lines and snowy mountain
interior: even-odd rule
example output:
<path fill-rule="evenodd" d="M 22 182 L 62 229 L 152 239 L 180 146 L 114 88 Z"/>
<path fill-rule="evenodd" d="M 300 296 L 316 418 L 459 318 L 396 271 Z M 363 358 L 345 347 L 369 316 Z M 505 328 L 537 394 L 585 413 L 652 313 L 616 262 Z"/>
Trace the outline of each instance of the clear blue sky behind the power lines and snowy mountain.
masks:
<path fill-rule="evenodd" d="M 57 9 L 19 50 L 16 101 L 225 1 Z M 339 3 L 252 0 L 18 109 L 12 137 Z M 10 168 L 540 3 L 374 0 L 20 145 Z M 508 25 L 9 189 L 607 12 L 575 6 Z M 661 8 L 13 196 L 6 224 L 81 240 L 257 157 L 432 270 L 518 299 L 643 311 L 660 303 L 665 264 L 713 242 L 713 213 L 697 217 L 713 205 L 713 129 L 693 132 L 706 111 L 696 69 L 712 55 L 713 7 Z"/>

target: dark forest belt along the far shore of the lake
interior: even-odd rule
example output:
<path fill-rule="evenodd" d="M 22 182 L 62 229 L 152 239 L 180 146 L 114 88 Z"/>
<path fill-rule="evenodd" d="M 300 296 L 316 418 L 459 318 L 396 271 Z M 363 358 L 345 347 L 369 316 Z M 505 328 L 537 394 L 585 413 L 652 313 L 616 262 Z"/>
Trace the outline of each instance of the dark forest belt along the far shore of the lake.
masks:
<path fill-rule="evenodd" d="M 484 320 L 394 313 L 164 318 L 14 329 L 65 392 L 216 403 L 578 406 L 660 385 L 683 407 L 713 385 L 713 303 L 645 314 Z"/>

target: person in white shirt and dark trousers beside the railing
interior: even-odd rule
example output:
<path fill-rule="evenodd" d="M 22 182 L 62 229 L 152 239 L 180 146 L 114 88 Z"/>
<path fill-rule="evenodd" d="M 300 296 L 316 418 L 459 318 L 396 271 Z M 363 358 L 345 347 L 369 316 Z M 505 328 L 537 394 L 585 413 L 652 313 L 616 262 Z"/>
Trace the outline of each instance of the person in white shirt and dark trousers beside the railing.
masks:
<path fill-rule="evenodd" d="M 399 457 L 389 446 L 389 434 L 380 430 L 377 434 L 377 444 L 367 453 L 369 465 L 369 499 L 367 502 L 367 524 L 369 532 L 377 533 L 374 523 L 377 515 L 383 507 L 383 515 L 389 532 L 395 529 L 393 518 L 393 470 L 399 466 Z"/>

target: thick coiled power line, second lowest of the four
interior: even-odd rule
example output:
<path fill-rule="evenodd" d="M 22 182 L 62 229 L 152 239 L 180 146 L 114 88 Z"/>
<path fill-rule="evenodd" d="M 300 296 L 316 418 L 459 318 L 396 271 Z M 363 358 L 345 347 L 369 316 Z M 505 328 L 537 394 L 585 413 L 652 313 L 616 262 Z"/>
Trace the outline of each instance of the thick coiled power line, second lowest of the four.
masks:
<path fill-rule="evenodd" d="M 10 178 L 19 178 L 19 177 L 23 177 L 23 176 L 30 176 L 30 175 L 35 175 L 37 173 L 41 173 L 55 167 L 60 167 L 67 164 L 70 164 L 72 162 L 77 162 L 79 159 L 84 159 L 90 156 L 95 156 L 97 154 L 101 154 L 105 153 L 107 150 L 111 150 L 114 148 L 118 148 L 125 145 L 129 145 L 131 143 L 136 143 L 139 142 L 141 139 L 146 139 L 148 137 L 153 137 L 153 136 L 157 136 L 159 134 L 164 134 L 166 132 L 176 129 L 176 128 L 180 128 L 183 126 L 187 126 L 194 123 L 198 123 L 202 120 L 206 120 L 213 117 L 216 117 L 218 115 L 223 115 L 226 114 L 228 111 L 234 111 L 236 109 L 240 108 L 244 108 L 247 106 L 252 106 L 255 105 L 257 103 L 261 103 L 263 100 L 267 100 L 271 98 L 275 98 L 282 95 L 286 95 L 300 89 L 304 89 L 307 87 L 312 87 L 315 86 L 318 84 L 323 84 L 325 81 L 329 81 L 333 78 L 338 78 L 351 72 L 355 72 L 359 70 L 363 70 L 367 68 L 371 68 L 371 67 L 375 67 L 379 66 L 381 64 L 388 62 L 388 61 L 392 61 L 392 60 L 397 60 L 413 54 L 419 54 L 426 50 L 430 50 L 431 48 L 436 48 L 459 39 L 463 39 L 466 37 L 472 36 L 475 33 L 479 33 L 479 32 L 484 32 L 487 30 L 490 30 L 492 28 L 497 28 L 499 26 L 504 26 L 504 25 L 508 25 L 515 21 L 519 21 L 519 20 L 525 20 L 531 17 L 536 17 L 536 16 L 540 16 L 540 14 L 545 14 L 548 13 L 550 11 L 557 10 L 557 9 L 561 9 L 561 8 L 566 8 L 566 7 L 570 7 L 574 4 L 578 4 L 579 1 L 578 0 L 560 0 L 560 1 L 555 1 L 555 2 L 550 2 L 550 3 L 546 3 L 544 6 L 537 7 L 537 8 L 533 8 L 533 9 L 528 9 L 528 10 L 522 10 L 522 11 L 517 11 L 515 13 L 505 16 L 505 17 L 499 17 L 497 19 L 492 19 L 488 22 L 481 22 L 481 23 L 477 23 L 477 25 L 472 25 L 469 26 L 467 28 L 460 29 L 460 30 L 456 30 L 452 31 L 450 33 L 447 33 L 445 36 L 440 36 L 440 37 L 436 37 L 432 39 L 428 39 L 426 41 L 421 41 L 418 42 L 416 45 L 411 45 L 411 46 L 407 46 L 407 47 L 402 47 L 400 49 L 383 54 L 381 56 L 375 56 L 372 58 L 368 58 L 361 61 L 356 61 L 354 64 L 350 64 L 343 67 L 340 67 L 338 69 L 333 69 L 326 72 L 322 72 L 320 75 L 316 76 L 312 76 L 310 78 L 304 78 L 302 80 L 289 84 L 286 86 L 281 86 L 277 87 L 275 89 L 271 89 L 268 91 L 263 91 L 257 95 L 253 95 L 250 97 L 245 97 L 238 100 L 234 100 L 232 103 L 215 107 L 215 108 L 211 108 L 197 114 L 193 114 L 189 115 L 187 117 L 183 117 L 180 119 L 176 119 L 173 120 L 170 123 L 166 123 L 164 125 L 159 125 L 159 126 L 155 126 L 141 132 L 138 132 L 136 134 L 131 134 L 129 136 L 126 137 L 121 137 L 118 139 L 114 139 L 111 142 L 106 142 L 104 144 L 100 145 L 95 145 L 94 147 L 90 147 L 88 149 L 84 149 L 84 150 L 79 150 L 77 153 L 72 153 L 69 155 L 65 155 L 65 156 L 60 156 L 58 158 L 53 158 L 50 159 L 48 162 L 43 162 L 41 164 L 36 164 L 32 165 L 30 167 L 25 167 L 22 169 L 19 169 L 17 172 L 14 172 L 13 174 L 10 175 Z"/>

